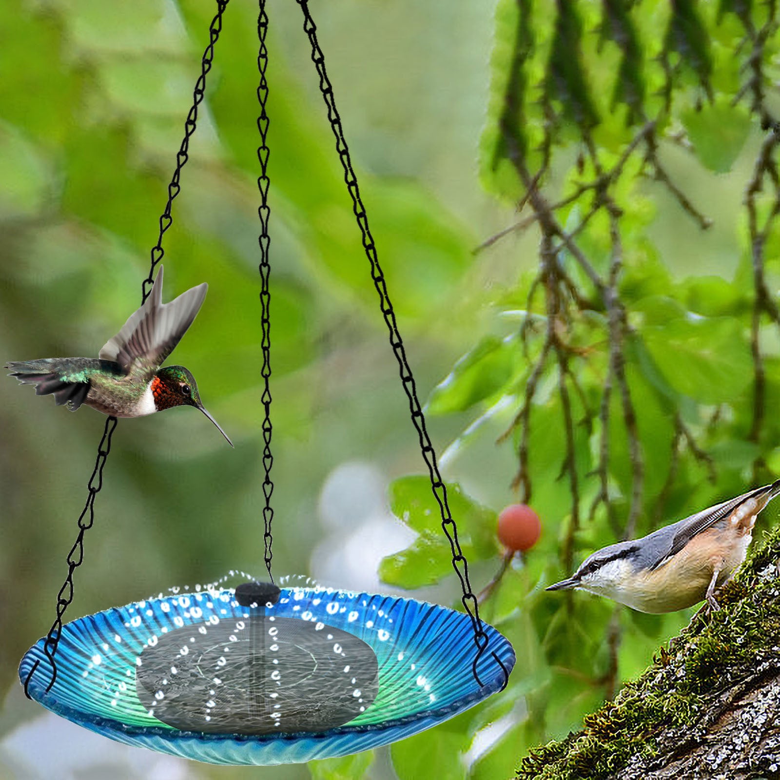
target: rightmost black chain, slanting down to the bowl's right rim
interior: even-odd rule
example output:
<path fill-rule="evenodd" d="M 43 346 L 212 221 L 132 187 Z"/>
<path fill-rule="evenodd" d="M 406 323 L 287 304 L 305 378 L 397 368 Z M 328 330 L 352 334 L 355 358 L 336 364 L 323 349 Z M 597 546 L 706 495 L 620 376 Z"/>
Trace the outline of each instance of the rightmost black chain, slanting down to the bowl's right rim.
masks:
<path fill-rule="evenodd" d="M 363 236 L 363 249 L 366 252 L 366 257 L 371 263 L 371 278 L 374 280 L 374 286 L 377 289 L 379 295 L 380 307 L 382 316 L 385 317 L 385 323 L 388 326 L 390 334 L 390 345 L 392 346 L 393 353 L 395 353 L 395 359 L 398 360 L 399 371 L 401 375 L 401 381 L 406 397 L 409 399 L 410 412 L 412 413 L 412 422 L 417 429 L 417 434 L 420 437 L 420 449 L 422 450 L 423 459 L 428 467 L 428 473 L 431 477 L 431 489 L 434 494 L 434 498 L 438 502 L 439 509 L 441 510 L 441 528 L 449 540 L 450 550 L 452 552 L 452 568 L 455 569 L 458 579 L 460 580 L 460 587 L 463 591 L 461 602 L 463 608 L 466 610 L 471 618 L 473 631 L 474 631 L 474 644 L 477 645 L 477 655 L 474 658 L 472 664 L 472 671 L 474 679 L 481 686 L 482 682 L 477 675 L 477 663 L 480 660 L 484 651 L 488 648 L 488 634 L 485 633 L 482 627 L 482 621 L 480 620 L 479 605 L 477 605 L 477 597 L 471 591 L 471 584 L 469 582 L 469 565 L 466 561 L 466 556 L 463 555 L 463 551 L 460 548 L 458 541 L 458 527 L 455 520 L 452 519 L 452 512 L 449 509 L 449 503 L 447 502 L 447 488 L 444 481 L 441 479 L 441 474 L 438 470 L 436 463 L 436 453 L 434 452 L 433 445 L 431 444 L 431 438 L 428 436 L 425 426 L 425 416 L 423 410 L 420 407 L 420 401 L 417 399 L 417 388 L 412 375 L 412 369 L 406 360 L 406 350 L 403 346 L 401 335 L 399 334 L 398 324 L 395 321 L 395 311 L 393 310 L 390 296 L 388 295 L 387 285 L 385 283 L 385 275 L 382 272 L 379 260 L 377 257 L 376 246 L 374 245 L 374 236 L 371 236 L 371 230 L 368 227 L 368 218 L 366 215 L 366 209 L 363 206 L 363 200 L 360 198 L 360 190 L 357 186 L 357 178 L 353 171 L 352 161 L 349 157 L 349 147 L 347 147 L 346 140 L 344 138 L 344 132 L 342 129 L 341 117 L 336 110 L 335 98 L 333 96 L 333 87 L 328 79 L 328 73 L 325 70 L 325 58 L 317 43 L 317 26 L 314 24 L 314 20 L 311 18 L 309 12 L 308 0 L 297 0 L 298 4 L 303 11 L 303 30 L 309 36 L 311 44 L 311 59 L 314 65 L 317 67 L 317 73 L 320 76 L 320 91 L 322 93 L 323 100 L 328 108 L 328 121 L 331 124 L 333 135 L 336 140 L 336 151 L 339 153 L 339 160 L 341 161 L 342 168 L 344 168 L 344 181 L 346 182 L 349 196 L 353 202 L 353 212 L 355 214 L 357 225 L 360 228 L 360 232 Z M 505 665 L 502 663 L 498 655 L 492 653 L 495 661 L 500 665 L 504 671 L 504 687 L 509 679 L 509 672 Z"/>

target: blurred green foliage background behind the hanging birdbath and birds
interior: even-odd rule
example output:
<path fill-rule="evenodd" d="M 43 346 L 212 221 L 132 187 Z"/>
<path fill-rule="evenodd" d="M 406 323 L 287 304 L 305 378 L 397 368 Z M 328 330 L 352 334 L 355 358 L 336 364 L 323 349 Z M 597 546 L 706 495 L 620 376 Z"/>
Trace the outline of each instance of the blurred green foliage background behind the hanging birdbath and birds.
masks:
<path fill-rule="evenodd" d="M 518 150 L 531 171 L 544 168 L 545 193 L 555 201 L 594 174 L 586 137 L 609 168 L 652 117 L 659 158 L 713 223 L 700 232 L 663 183 L 642 175 L 646 165 L 636 157 L 611 183 L 622 211 L 616 289 L 627 313 L 626 386 L 644 463 L 636 533 L 780 471 L 776 416 L 765 414 L 754 428 L 756 289 L 742 207 L 764 135 L 750 91 L 733 99 L 746 78 L 740 58 L 750 54 L 750 41 L 738 46 L 746 20 L 763 25 L 768 6 L 745 16 L 749 4 L 679 2 L 672 13 L 660 0 L 486 0 L 456 13 L 445 0 L 313 5 L 418 387 L 433 387 L 429 427 L 475 590 L 500 565 L 495 516 L 517 500 L 511 485 L 523 445 L 513 421 L 549 321 L 541 293 L 530 294 L 537 226 L 471 254 L 514 218 L 525 193 L 513 165 Z M 116 7 L 6 0 L 3 360 L 94 355 L 137 307 L 213 10 L 200 0 Z M 381 577 L 395 588 L 433 586 L 423 593 L 457 604 L 427 477 L 407 476 L 422 470 L 417 438 L 297 11 L 294 2 L 269 9 L 275 572 L 307 571 L 323 534 L 324 478 L 346 459 L 370 459 L 398 477 L 392 510 L 417 534 L 410 548 L 385 558 Z M 255 14 L 236 0 L 226 12 L 165 237 L 168 295 L 210 284 L 176 362 L 193 371 L 236 452 L 186 410 L 122 421 L 69 617 L 231 568 L 261 570 Z M 777 47 L 775 34 L 764 41 L 768 82 L 777 75 Z M 767 111 L 773 101 L 768 90 Z M 472 163 L 477 144 L 490 196 Z M 589 206 L 576 198 L 558 215 L 606 275 L 610 223 L 600 212 L 583 225 Z M 761 220 L 771 215 L 769 190 L 757 211 Z M 771 222 L 763 258 L 771 290 L 780 282 L 778 246 Z M 608 311 L 566 247 L 556 262 L 593 305 L 576 307 L 564 328 L 579 384 L 568 396 L 571 440 L 554 363 L 541 371 L 529 406 L 530 501 L 544 533 L 481 609 L 516 648 L 508 688 L 376 755 L 309 768 L 197 767 L 193 776 L 509 777 L 527 750 L 579 725 L 686 623 L 688 613 L 642 615 L 588 595 L 544 592 L 572 562 L 620 537 L 636 480 L 615 392 L 608 431 L 597 415 Z M 780 340 L 765 315 L 753 338 L 764 356 L 764 404 L 773 410 Z M 0 683 L 15 691 L 2 732 L 38 712 L 18 698 L 16 663 L 51 622 L 101 426 L 90 411 L 71 417 L 12 381 L 0 383 Z M 609 511 L 601 504 L 589 519 L 604 436 Z M 572 472 L 580 486 L 576 525 Z"/>

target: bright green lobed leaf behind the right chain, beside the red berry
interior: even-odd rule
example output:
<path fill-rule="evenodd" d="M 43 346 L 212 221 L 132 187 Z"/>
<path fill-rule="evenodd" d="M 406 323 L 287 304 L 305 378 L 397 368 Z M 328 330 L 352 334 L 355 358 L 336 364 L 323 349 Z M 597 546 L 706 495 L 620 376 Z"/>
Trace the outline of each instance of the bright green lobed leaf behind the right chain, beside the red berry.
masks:
<path fill-rule="evenodd" d="M 497 555 L 496 513 L 473 502 L 458 484 L 447 485 L 447 496 L 463 555 L 470 561 Z M 452 551 L 441 529 L 431 481 L 427 477 L 395 480 L 390 485 L 390 505 L 395 516 L 419 535 L 406 550 L 382 559 L 381 580 L 411 589 L 437 583 L 452 573 Z"/>

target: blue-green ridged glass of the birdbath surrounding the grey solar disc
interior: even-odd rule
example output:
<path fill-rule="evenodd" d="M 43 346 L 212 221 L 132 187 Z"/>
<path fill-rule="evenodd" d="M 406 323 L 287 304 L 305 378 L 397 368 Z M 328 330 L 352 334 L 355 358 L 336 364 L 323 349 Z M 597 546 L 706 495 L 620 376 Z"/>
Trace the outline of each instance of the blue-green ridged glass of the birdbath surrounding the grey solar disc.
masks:
<path fill-rule="evenodd" d="M 359 637 L 377 656 L 378 693 L 346 725 L 325 732 L 271 735 L 180 731 L 154 717 L 136 693 L 144 647 L 182 628 L 208 629 L 249 617 L 232 590 L 203 590 L 112 608 L 69 622 L 50 672 L 44 640 L 25 654 L 20 679 L 40 661 L 28 687 L 44 707 L 87 729 L 129 745 L 211 764 L 288 764 L 344 756 L 403 739 L 473 707 L 500 690 L 511 672 L 512 645 L 491 626 L 480 658 L 480 687 L 472 674 L 473 631 L 468 615 L 413 599 L 312 588 L 282 590 L 266 615 L 332 626 Z M 172 659 L 174 662 L 176 659 Z"/>

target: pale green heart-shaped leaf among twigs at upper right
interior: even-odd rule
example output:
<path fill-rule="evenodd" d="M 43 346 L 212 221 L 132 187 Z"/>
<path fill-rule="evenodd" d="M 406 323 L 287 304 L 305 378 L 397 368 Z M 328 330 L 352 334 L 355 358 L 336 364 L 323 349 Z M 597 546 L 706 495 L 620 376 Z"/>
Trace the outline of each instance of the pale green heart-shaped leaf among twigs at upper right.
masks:
<path fill-rule="evenodd" d="M 743 105 L 718 101 L 683 112 L 683 125 L 703 165 L 715 173 L 729 172 L 750 134 L 752 122 Z"/>

